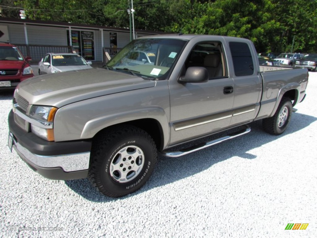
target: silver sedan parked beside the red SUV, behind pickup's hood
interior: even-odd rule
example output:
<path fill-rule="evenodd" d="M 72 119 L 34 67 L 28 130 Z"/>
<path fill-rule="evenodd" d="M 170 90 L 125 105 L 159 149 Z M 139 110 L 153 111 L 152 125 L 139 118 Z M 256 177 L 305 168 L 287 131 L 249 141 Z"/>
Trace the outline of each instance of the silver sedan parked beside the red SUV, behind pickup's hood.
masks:
<path fill-rule="evenodd" d="M 75 53 L 47 53 L 39 62 L 39 75 L 70 70 L 91 69 L 91 61 Z"/>

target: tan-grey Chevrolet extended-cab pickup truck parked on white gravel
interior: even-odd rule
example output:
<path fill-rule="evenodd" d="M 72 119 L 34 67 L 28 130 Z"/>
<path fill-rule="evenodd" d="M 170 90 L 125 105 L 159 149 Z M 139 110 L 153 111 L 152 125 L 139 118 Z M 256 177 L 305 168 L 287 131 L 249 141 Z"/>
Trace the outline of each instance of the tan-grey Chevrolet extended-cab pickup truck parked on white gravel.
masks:
<path fill-rule="evenodd" d="M 145 184 L 158 153 L 185 155 L 248 133 L 260 119 L 268 133 L 283 133 L 307 82 L 307 69 L 260 67 L 247 39 L 141 37 L 102 68 L 20 83 L 8 143 L 47 178 L 88 177 L 120 197 Z"/>

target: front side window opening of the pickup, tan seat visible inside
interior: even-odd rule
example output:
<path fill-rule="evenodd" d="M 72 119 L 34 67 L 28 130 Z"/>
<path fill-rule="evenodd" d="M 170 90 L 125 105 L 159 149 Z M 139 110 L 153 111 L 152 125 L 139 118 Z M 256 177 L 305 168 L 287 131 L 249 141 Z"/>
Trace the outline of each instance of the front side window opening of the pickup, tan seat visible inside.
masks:
<path fill-rule="evenodd" d="M 189 54 L 185 68 L 204 67 L 209 78 L 227 76 L 224 55 L 220 42 L 201 42 Z"/>

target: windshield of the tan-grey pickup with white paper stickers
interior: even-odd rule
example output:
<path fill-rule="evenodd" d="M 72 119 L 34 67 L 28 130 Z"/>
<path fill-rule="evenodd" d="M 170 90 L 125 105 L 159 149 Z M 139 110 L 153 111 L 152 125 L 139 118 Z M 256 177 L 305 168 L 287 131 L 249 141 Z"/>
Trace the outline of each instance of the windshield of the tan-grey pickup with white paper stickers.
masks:
<path fill-rule="evenodd" d="M 164 78 L 186 42 L 162 38 L 136 39 L 120 50 L 107 67 L 144 77 Z"/>

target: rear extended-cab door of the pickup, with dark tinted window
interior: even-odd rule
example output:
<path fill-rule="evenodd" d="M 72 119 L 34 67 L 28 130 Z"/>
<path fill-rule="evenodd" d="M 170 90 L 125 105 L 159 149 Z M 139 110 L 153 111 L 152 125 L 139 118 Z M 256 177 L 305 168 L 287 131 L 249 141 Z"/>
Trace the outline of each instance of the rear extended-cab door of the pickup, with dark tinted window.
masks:
<path fill-rule="evenodd" d="M 230 126 L 252 121 L 260 107 L 262 81 L 257 74 L 256 51 L 251 42 L 229 42 L 234 82 L 233 113 Z"/>

